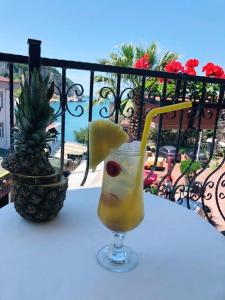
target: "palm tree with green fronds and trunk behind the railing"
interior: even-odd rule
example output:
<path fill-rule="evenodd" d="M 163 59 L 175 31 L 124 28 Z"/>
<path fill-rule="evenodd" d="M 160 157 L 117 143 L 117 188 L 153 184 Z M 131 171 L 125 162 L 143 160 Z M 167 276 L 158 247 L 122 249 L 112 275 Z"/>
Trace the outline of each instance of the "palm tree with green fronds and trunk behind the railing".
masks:
<path fill-rule="evenodd" d="M 112 52 L 108 59 L 99 59 L 98 62 L 103 65 L 113 65 L 119 67 L 134 67 L 135 62 L 142 58 L 145 54 L 148 54 L 148 64 L 151 70 L 163 71 L 166 64 L 172 60 L 176 60 L 178 55 L 171 51 L 159 54 L 157 44 L 152 43 L 146 49 L 140 46 L 136 46 L 129 43 L 122 44 L 117 52 Z M 125 87 L 129 87 L 134 92 L 132 99 L 132 106 L 134 113 L 130 118 L 130 130 L 129 134 L 131 139 L 137 138 L 138 132 L 138 117 L 140 115 L 140 100 L 141 100 L 141 84 L 142 79 L 140 76 L 134 75 L 122 75 L 121 76 Z M 114 91 L 116 91 L 116 74 L 106 74 L 96 76 L 95 81 L 98 83 L 104 83 Z M 159 88 L 159 82 L 156 78 L 147 78 L 145 83 L 145 91 Z M 97 101 L 103 100 L 99 95 Z M 125 109 L 128 99 L 122 101 L 122 110 Z M 139 124 L 139 126 L 143 125 Z"/>

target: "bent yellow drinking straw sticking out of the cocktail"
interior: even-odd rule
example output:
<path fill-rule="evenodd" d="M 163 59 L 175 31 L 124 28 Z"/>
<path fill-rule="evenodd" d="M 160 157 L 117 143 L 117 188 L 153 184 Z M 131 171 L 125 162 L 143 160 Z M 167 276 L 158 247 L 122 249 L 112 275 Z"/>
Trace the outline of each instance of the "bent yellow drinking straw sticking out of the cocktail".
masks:
<path fill-rule="evenodd" d="M 164 113 L 168 113 L 168 112 L 172 112 L 172 111 L 176 111 L 176 110 L 189 108 L 189 107 L 192 107 L 192 102 L 191 101 L 178 103 L 178 104 L 167 105 L 167 106 L 163 106 L 163 107 L 157 107 L 157 108 L 153 108 L 152 110 L 150 110 L 149 113 L 147 114 L 146 119 L 145 119 L 144 131 L 143 131 L 143 135 L 142 135 L 142 139 L 141 139 L 141 145 L 140 145 L 140 154 L 142 156 L 144 156 L 145 147 L 146 147 L 147 139 L 148 139 L 148 136 L 149 136 L 150 125 L 151 125 L 152 119 L 155 116 L 161 115 L 161 114 L 164 114 Z"/>

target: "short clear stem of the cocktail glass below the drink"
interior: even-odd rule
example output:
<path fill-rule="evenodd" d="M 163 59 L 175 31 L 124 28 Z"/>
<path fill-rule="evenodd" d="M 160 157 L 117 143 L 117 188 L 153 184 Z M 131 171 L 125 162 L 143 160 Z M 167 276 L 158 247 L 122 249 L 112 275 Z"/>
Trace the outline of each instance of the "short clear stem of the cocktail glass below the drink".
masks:
<path fill-rule="evenodd" d="M 126 251 L 123 247 L 123 240 L 126 233 L 114 233 L 114 244 L 110 259 L 117 264 L 125 263 L 127 259 Z"/>

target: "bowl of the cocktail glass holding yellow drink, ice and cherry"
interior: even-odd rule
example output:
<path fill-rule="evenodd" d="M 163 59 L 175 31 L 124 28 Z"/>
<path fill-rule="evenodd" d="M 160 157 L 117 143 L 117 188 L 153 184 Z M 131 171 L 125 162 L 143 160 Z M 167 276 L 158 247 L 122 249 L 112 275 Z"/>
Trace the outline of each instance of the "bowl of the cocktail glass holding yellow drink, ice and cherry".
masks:
<path fill-rule="evenodd" d="M 138 151 L 134 151 L 132 143 L 125 144 L 105 160 L 98 215 L 102 223 L 115 232 L 134 229 L 144 217 L 143 172 L 137 174 L 140 145 L 136 142 L 137 146 Z"/>

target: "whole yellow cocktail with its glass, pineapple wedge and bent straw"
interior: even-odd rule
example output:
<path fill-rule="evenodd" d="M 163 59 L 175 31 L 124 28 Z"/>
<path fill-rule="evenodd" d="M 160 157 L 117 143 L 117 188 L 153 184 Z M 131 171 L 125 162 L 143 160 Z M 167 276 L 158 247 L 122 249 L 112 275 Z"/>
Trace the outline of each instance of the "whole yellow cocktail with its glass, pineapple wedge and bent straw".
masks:
<path fill-rule="evenodd" d="M 128 136 L 119 125 L 95 121 L 90 125 L 90 166 L 104 160 L 104 174 L 98 215 L 102 223 L 114 231 L 114 243 L 99 250 L 97 260 L 113 272 L 128 272 L 138 263 L 136 253 L 123 246 L 125 233 L 144 218 L 143 164 L 152 118 L 156 115 L 191 107 L 191 102 L 151 110 L 145 121 L 140 142 L 126 143 Z"/>

